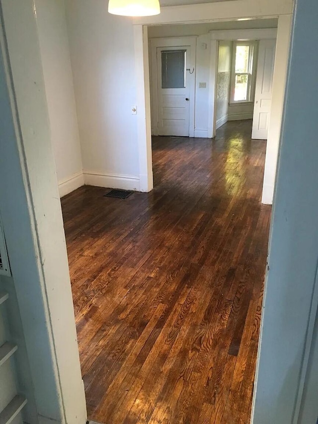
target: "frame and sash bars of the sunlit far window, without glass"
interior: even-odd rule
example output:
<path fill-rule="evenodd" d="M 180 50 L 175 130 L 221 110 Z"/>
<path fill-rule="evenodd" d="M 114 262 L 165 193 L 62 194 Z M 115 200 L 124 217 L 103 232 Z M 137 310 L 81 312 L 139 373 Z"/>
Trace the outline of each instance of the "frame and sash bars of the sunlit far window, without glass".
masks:
<path fill-rule="evenodd" d="M 248 69 L 249 72 L 235 72 L 235 62 L 236 62 L 236 51 L 237 46 L 249 46 L 248 53 Z M 233 42 L 233 52 L 232 52 L 232 66 L 231 66 L 231 95 L 230 95 L 230 105 L 234 104 L 246 104 L 254 102 L 255 94 L 255 74 L 256 74 L 256 58 L 257 58 L 257 41 L 234 41 Z M 247 75 L 247 99 L 246 100 L 234 100 L 235 94 L 235 80 L 237 75 Z"/>

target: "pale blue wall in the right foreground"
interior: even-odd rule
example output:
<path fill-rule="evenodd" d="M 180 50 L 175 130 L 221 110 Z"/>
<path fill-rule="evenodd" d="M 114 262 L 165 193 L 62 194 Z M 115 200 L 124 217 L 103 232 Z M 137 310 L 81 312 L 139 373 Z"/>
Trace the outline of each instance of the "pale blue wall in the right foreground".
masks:
<path fill-rule="evenodd" d="M 295 11 L 253 424 L 292 422 L 318 260 L 318 1 Z"/>

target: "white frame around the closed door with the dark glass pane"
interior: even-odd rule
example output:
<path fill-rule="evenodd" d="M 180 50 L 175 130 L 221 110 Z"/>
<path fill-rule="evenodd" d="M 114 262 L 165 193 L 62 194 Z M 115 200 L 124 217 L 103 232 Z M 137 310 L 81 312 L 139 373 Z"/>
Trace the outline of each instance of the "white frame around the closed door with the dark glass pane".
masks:
<path fill-rule="evenodd" d="M 153 135 L 159 135 L 158 130 L 158 67 L 157 67 L 157 48 L 158 47 L 178 47 L 189 46 L 191 48 L 191 66 L 194 68 L 193 78 L 189 78 L 190 85 L 190 105 L 189 105 L 189 137 L 194 137 L 194 110 L 195 110 L 195 74 L 196 74 L 196 37 L 162 37 L 151 38 L 151 81 L 152 81 L 152 130 Z"/>

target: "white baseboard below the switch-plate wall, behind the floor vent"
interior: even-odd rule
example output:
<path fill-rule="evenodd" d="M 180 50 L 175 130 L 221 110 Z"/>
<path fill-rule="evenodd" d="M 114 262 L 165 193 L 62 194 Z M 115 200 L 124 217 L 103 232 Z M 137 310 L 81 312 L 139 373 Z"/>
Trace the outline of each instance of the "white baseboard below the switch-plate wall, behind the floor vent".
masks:
<path fill-rule="evenodd" d="M 140 189 L 139 176 L 121 175 L 109 172 L 95 172 L 83 170 L 85 185 L 95 185 L 96 187 L 121 188 L 123 190 Z"/>

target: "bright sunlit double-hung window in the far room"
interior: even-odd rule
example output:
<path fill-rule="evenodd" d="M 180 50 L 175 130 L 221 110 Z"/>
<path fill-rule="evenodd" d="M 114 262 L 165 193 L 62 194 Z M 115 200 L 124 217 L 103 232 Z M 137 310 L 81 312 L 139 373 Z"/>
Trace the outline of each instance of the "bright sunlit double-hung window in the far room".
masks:
<path fill-rule="evenodd" d="M 254 42 L 235 42 L 233 46 L 231 103 L 253 101 Z"/>

